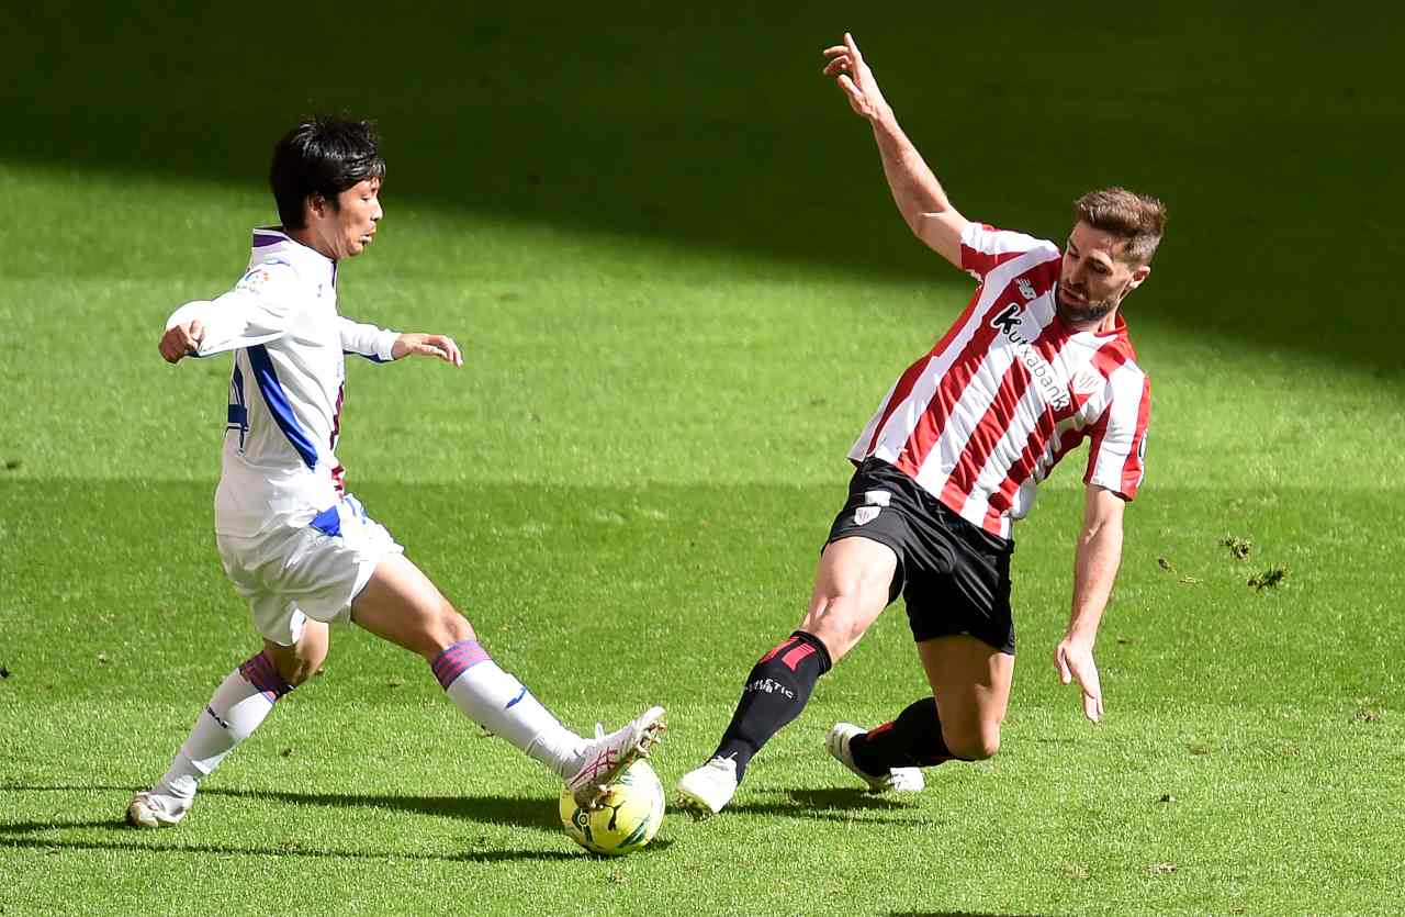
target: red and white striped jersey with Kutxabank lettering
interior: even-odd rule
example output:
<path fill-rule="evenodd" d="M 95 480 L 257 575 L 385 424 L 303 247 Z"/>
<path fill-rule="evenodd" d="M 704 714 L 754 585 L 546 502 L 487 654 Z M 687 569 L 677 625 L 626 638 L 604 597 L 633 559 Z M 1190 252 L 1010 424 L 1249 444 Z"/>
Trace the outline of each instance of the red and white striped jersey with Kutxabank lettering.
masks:
<path fill-rule="evenodd" d="M 1085 439 L 1083 481 L 1132 499 L 1151 381 L 1120 314 L 1104 335 L 1075 332 L 1058 318 L 1061 257 L 1052 242 L 969 224 L 961 267 L 981 286 L 892 385 L 849 457 L 895 466 L 1003 539 L 1028 513 L 1038 482 Z"/>

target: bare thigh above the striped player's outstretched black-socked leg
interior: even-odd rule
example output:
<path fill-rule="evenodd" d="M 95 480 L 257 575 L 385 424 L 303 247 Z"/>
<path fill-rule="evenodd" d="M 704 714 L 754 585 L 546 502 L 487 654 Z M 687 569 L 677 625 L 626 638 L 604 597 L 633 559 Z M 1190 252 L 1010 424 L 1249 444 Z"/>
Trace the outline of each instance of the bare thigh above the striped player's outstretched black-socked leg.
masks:
<path fill-rule="evenodd" d="M 896 553 L 881 541 L 863 536 L 830 541 L 801 630 L 819 637 L 830 660 L 839 661 L 888 606 L 896 570 Z"/>

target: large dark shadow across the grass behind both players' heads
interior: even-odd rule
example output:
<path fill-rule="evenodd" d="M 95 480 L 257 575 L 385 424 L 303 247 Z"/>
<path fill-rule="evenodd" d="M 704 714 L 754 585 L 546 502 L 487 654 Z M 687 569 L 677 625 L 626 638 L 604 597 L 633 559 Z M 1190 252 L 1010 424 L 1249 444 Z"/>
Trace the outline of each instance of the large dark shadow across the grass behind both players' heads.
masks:
<path fill-rule="evenodd" d="M 263 44 L 215 4 L 167 4 L 160 17 L 132 17 L 122 4 L 17 4 L 7 25 L 20 39 L 0 59 L 3 84 L 18 87 L 6 96 L 0 159 L 233 183 L 268 207 L 261 186 L 274 138 L 309 107 L 350 110 L 385 129 L 391 207 L 403 197 L 924 283 L 944 266 L 908 238 L 868 132 L 819 76 L 821 49 L 853 10 L 771 6 L 764 15 L 700 7 L 600 30 L 589 7 L 555 0 L 490 13 L 414 4 L 378 21 L 375 80 L 346 79 L 362 69 L 361 49 L 330 42 L 280 60 L 270 83 Z M 1392 336 L 1373 333 L 1391 326 L 1392 298 L 1375 291 L 1391 287 L 1399 239 L 1388 203 L 1399 188 L 1388 152 L 1401 136 L 1388 89 L 1399 17 L 1384 4 L 1324 13 L 1331 42 L 1300 28 L 1302 17 L 1266 27 L 1217 15 L 1207 32 L 1213 7 L 1191 8 L 1203 4 L 1165 4 L 1137 23 L 1109 21 L 1097 4 L 1019 17 L 930 6 L 885 6 L 887 15 L 858 17 L 854 30 L 967 214 L 1061 241 L 1069 201 L 1125 180 L 1165 195 L 1175 221 L 1149 286 L 1162 293 L 1142 294 L 1134 309 L 1159 302 L 1161 321 L 1197 338 L 1399 371 Z M 340 15 L 332 0 L 282 4 L 280 27 L 318 34 Z M 941 66 L 913 39 L 910 23 L 924 20 L 916 34 L 939 28 L 947 39 Z M 984 65 L 992 28 L 1024 52 L 971 86 L 951 79 Z M 1031 148 L 1038 125 L 1089 117 L 1082 100 L 1028 87 L 1064 66 L 1065 44 L 1090 28 L 1103 37 L 1104 68 L 1125 79 L 1107 89 L 1090 129 Z M 592 41 L 579 41 L 583 32 Z M 45 79 L 27 79 L 34 73 Z M 989 104 L 967 104 L 974 87 L 1000 118 Z M 253 111 L 250 91 L 263 100 Z M 1260 181 L 1307 181 L 1314 218 L 1293 194 L 1225 204 Z M 846 232 L 795 231 L 826 225 L 836 210 Z M 1342 225 L 1380 243 L 1340 245 Z M 65 228 L 42 232 L 59 239 Z M 1246 246 L 1252 270 L 1218 256 Z M 1325 300 L 1352 307 L 1324 322 Z"/>

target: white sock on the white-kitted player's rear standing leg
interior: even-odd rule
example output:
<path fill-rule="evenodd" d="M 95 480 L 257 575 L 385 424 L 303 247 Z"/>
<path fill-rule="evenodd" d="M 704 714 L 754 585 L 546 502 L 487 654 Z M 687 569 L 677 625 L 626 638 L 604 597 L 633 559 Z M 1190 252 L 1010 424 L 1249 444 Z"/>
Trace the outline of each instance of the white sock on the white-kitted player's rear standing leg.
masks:
<path fill-rule="evenodd" d="M 259 729 L 273 705 L 292 686 L 282 681 L 263 653 L 229 672 L 201 710 L 185 744 L 156 785 L 156 792 L 191 799 L 200 782 L 249 734 Z"/>

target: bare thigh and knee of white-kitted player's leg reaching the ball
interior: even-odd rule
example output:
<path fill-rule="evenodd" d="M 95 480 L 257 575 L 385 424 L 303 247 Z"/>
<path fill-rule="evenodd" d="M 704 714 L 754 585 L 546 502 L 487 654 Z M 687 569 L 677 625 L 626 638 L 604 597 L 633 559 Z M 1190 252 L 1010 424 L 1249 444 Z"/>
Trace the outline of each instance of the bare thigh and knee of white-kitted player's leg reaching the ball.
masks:
<path fill-rule="evenodd" d="M 389 554 L 351 601 L 351 620 L 412 653 L 433 660 L 473 640 L 473 629 L 405 554 Z"/>

